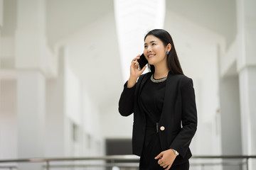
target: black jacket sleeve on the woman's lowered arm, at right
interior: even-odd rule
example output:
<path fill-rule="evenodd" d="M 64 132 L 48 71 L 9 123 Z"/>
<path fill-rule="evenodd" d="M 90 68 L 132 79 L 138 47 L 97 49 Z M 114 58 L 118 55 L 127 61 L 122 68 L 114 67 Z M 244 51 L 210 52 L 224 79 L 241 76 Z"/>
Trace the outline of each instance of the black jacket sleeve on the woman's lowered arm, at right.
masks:
<path fill-rule="evenodd" d="M 182 128 L 178 132 L 170 148 L 175 149 L 184 157 L 197 128 L 196 99 L 192 79 L 183 79 L 181 86 L 181 122 Z"/>

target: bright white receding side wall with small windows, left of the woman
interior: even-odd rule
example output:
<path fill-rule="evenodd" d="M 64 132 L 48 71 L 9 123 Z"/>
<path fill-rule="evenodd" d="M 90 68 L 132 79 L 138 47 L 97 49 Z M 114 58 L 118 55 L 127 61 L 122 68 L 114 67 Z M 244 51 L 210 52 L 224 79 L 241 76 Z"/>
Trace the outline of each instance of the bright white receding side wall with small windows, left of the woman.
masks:
<path fill-rule="evenodd" d="M 71 56 L 68 53 L 68 56 Z M 65 62 L 65 140 L 68 155 L 92 156 L 104 152 L 102 130 L 97 106 L 91 101 L 87 87 Z M 78 127 L 78 141 L 73 141 L 73 123 Z M 84 148 L 84 149 L 81 149 Z"/>

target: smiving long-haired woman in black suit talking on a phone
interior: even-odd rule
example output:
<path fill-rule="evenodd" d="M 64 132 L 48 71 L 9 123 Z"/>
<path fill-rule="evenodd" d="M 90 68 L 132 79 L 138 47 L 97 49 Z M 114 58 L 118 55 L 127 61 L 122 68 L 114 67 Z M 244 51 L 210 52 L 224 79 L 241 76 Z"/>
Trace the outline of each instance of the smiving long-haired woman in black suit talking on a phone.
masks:
<path fill-rule="evenodd" d="M 144 56 L 151 72 L 142 74 L 146 66 L 139 70 L 139 55 L 134 58 L 119 99 L 121 115 L 134 113 L 132 150 L 140 156 L 139 169 L 189 169 L 197 127 L 193 81 L 183 75 L 166 30 L 146 34 Z"/>

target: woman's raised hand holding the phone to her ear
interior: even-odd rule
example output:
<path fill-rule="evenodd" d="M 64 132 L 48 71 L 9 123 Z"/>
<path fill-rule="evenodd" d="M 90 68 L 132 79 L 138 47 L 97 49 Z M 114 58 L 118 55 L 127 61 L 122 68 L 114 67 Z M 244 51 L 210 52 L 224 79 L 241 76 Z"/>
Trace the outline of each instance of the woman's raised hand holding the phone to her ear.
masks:
<path fill-rule="evenodd" d="M 128 88 L 131 88 L 136 84 L 138 77 L 142 75 L 146 69 L 146 66 L 144 66 L 141 70 L 138 69 L 139 62 L 137 62 L 137 60 L 139 59 L 139 56 L 140 55 L 137 55 L 137 57 L 132 60 L 132 64 L 130 66 L 130 77 L 127 83 Z"/>

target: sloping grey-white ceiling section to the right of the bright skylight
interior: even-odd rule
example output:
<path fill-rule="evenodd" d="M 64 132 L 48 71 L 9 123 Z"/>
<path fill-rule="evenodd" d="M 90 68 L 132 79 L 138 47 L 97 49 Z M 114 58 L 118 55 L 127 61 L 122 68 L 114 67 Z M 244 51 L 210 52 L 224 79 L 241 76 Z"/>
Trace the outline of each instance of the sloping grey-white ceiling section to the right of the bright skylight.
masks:
<path fill-rule="evenodd" d="M 166 10 L 223 36 L 227 47 L 235 40 L 237 13 L 234 0 L 168 0 L 166 1 Z M 168 18 L 169 16 L 166 16 L 166 20 Z"/>

